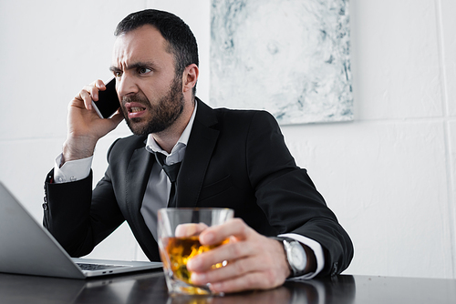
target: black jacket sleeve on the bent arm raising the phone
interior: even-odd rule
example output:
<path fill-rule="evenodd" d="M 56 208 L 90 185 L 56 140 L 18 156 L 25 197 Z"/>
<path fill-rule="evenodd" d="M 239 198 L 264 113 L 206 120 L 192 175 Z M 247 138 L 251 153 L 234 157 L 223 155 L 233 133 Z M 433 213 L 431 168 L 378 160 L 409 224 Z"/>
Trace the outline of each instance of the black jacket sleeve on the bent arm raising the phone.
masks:
<path fill-rule="evenodd" d="M 45 183 L 43 225 L 71 257 L 85 256 L 124 221 L 109 167 L 93 191 L 92 172 L 63 184 L 52 183 L 53 176 L 51 171 Z"/>

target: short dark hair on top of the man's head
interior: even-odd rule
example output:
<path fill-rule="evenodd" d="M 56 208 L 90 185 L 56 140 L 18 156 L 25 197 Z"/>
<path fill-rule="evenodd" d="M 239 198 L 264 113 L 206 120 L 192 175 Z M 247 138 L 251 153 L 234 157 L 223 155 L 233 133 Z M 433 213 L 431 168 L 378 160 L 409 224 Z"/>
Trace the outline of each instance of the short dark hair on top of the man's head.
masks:
<path fill-rule="evenodd" d="M 177 15 L 156 9 L 146 9 L 126 16 L 116 27 L 114 35 L 128 33 L 142 25 L 157 28 L 168 42 L 170 52 L 174 56 L 176 76 L 181 75 L 185 67 L 199 65 L 198 45 L 189 25 Z M 193 87 L 193 95 L 196 86 Z"/>

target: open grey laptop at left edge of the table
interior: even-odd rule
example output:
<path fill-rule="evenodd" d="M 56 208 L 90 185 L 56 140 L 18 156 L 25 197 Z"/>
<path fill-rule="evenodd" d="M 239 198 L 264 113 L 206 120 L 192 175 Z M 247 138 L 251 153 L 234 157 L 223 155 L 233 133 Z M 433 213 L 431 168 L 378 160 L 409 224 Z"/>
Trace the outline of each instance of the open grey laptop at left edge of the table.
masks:
<path fill-rule="evenodd" d="M 0 182 L 0 272 L 86 279 L 161 267 L 161 262 L 69 257 Z"/>

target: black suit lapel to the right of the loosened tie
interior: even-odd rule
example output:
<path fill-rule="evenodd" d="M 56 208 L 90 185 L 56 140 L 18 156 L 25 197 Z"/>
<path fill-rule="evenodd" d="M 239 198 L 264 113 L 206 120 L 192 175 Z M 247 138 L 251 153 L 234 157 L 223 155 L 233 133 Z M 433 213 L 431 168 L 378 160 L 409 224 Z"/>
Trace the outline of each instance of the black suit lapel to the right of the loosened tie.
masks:
<path fill-rule="evenodd" d="M 217 123 L 212 109 L 196 98 L 198 108 L 193 122 L 185 157 L 177 179 L 177 207 L 194 207 L 202 188 L 202 181 L 217 143 L 219 131 L 211 128 Z"/>

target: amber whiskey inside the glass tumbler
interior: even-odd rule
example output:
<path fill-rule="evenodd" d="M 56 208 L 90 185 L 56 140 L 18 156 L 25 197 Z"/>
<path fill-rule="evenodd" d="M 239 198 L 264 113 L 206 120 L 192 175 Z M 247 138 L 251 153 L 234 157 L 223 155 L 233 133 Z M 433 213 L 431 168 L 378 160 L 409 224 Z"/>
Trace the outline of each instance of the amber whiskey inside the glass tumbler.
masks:
<path fill-rule="evenodd" d="M 168 264 L 167 262 L 169 261 L 171 265 L 165 265 L 165 267 L 169 266 L 175 279 L 180 279 L 181 281 L 192 285 L 192 272 L 187 269 L 187 262 L 189 259 L 227 242 L 228 239 L 216 245 L 203 246 L 201 245 L 198 236 L 188 238 L 166 238 L 166 240 L 164 240 L 164 245 L 169 259 L 165 264 Z M 219 263 L 213 265 L 212 268 L 220 268 L 222 266 L 223 263 Z"/>

